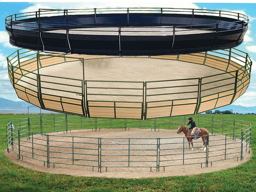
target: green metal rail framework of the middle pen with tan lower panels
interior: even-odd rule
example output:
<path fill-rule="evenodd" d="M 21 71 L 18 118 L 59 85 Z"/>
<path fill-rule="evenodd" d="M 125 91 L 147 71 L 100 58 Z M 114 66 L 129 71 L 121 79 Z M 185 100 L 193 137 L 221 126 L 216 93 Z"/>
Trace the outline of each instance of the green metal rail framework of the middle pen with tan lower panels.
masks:
<path fill-rule="evenodd" d="M 210 58 L 211 60 L 215 60 L 217 62 L 218 61 L 219 62 L 224 62 L 224 61 L 222 61 L 221 59 L 218 59 L 218 58 L 221 58 L 220 56 L 222 56 L 222 55 L 224 55 L 224 57 L 228 57 L 227 62 L 226 62 L 227 67 L 226 67 L 225 70 L 222 70 L 223 73 L 221 73 L 221 74 L 209 75 L 207 77 L 201 77 L 201 78 L 174 79 L 174 80 L 147 81 L 147 82 L 143 82 L 143 81 L 99 81 L 99 80 L 87 80 L 86 79 L 86 72 L 85 72 L 85 67 L 84 66 L 85 66 L 85 60 L 87 60 L 87 59 L 79 58 L 79 57 L 70 57 L 69 55 L 65 55 L 65 54 L 56 55 L 56 54 L 42 54 L 42 52 L 40 52 L 40 51 L 37 51 L 37 52 L 35 52 L 35 51 L 24 51 L 24 52 L 22 52 L 22 51 L 23 51 L 23 49 L 18 49 L 17 51 L 15 51 L 14 53 L 12 53 L 10 56 L 7 57 L 8 74 L 9 74 L 10 80 L 13 83 L 13 86 L 14 86 L 15 91 L 16 91 L 16 89 L 21 90 L 21 89 L 17 88 L 15 85 L 19 85 L 18 82 L 23 81 L 21 79 L 22 77 L 32 79 L 35 82 L 34 84 L 33 83 L 28 83 L 28 82 L 26 82 L 26 83 L 28 83 L 29 85 L 32 85 L 34 87 L 37 87 L 37 91 L 26 88 L 26 87 L 21 86 L 21 85 L 19 85 L 19 86 L 21 86 L 25 89 L 25 94 L 30 94 L 30 93 L 27 93 L 26 90 L 31 90 L 31 91 L 37 92 L 38 101 L 39 101 L 40 107 L 42 109 L 48 109 L 43 104 L 42 89 L 50 89 L 50 88 L 45 88 L 45 87 L 41 86 L 41 82 L 47 82 L 47 81 L 42 81 L 41 77 L 46 77 L 47 76 L 47 77 L 52 77 L 52 78 L 61 78 L 61 77 L 55 77 L 55 76 L 52 76 L 52 75 L 42 75 L 42 74 L 40 74 L 39 69 L 43 68 L 42 64 L 41 64 L 42 61 L 44 59 L 47 59 L 47 58 L 59 57 L 59 58 L 63 58 L 63 62 L 60 62 L 60 63 L 57 63 L 57 64 L 66 63 L 67 59 L 72 59 L 72 61 L 70 61 L 70 62 L 80 61 L 82 63 L 82 65 L 83 65 L 83 70 L 82 70 L 83 71 L 83 78 L 82 79 L 64 78 L 64 79 L 67 79 L 67 80 L 81 81 L 81 85 L 79 85 L 79 86 L 69 85 L 69 86 L 72 86 L 72 87 L 80 88 L 80 90 L 81 90 L 80 92 L 74 92 L 74 93 L 76 93 L 78 95 L 81 95 L 81 99 L 70 98 L 70 97 L 61 97 L 61 98 L 70 98 L 70 99 L 81 101 L 81 104 L 74 104 L 74 103 L 69 103 L 69 102 L 65 102 L 65 103 L 72 104 L 72 105 L 81 105 L 82 106 L 82 114 L 78 114 L 78 115 L 80 115 L 82 117 L 88 117 L 88 118 L 91 117 L 90 116 L 90 111 L 89 111 L 90 107 L 112 107 L 112 108 L 114 108 L 114 111 L 115 111 L 116 108 L 141 109 L 141 117 L 139 117 L 138 119 L 147 119 L 147 109 L 153 108 L 153 107 L 148 107 L 147 104 L 152 103 L 152 102 L 164 102 L 164 101 L 171 101 L 172 104 L 171 105 L 163 105 L 163 106 L 155 106 L 155 107 L 165 107 L 165 106 L 171 107 L 171 112 L 170 112 L 170 115 L 169 115 L 169 116 L 171 116 L 173 106 L 175 106 L 173 104 L 174 101 L 176 101 L 176 100 L 185 100 L 185 99 L 197 99 L 197 102 L 193 103 L 193 104 L 196 104 L 196 107 L 195 107 L 195 110 L 194 110 L 193 114 L 197 114 L 200 111 L 200 106 L 201 106 L 202 103 L 213 100 L 213 99 L 208 99 L 208 100 L 202 102 L 201 101 L 202 98 L 218 94 L 218 97 L 217 97 L 217 101 L 218 101 L 219 98 L 232 95 L 232 94 L 229 94 L 229 95 L 219 96 L 219 94 L 221 94 L 225 91 L 233 90 L 234 92 L 233 92 L 233 97 L 232 97 L 231 102 L 230 102 L 230 104 L 231 104 L 234 101 L 234 98 L 236 97 L 237 93 L 239 91 L 241 91 L 241 93 L 239 95 L 239 96 L 241 96 L 241 94 L 244 93 L 244 91 L 245 91 L 244 88 L 247 88 L 247 86 L 250 82 L 250 71 L 251 71 L 251 65 L 252 65 L 252 61 L 251 61 L 251 59 L 250 59 L 250 57 L 247 53 L 245 53 L 243 51 L 240 51 L 236 48 L 231 48 L 231 49 L 228 49 L 228 50 L 207 51 L 207 52 L 203 53 L 204 56 L 200 55 L 200 57 L 202 57 L 202 58 L 205 57 L 202 65 L 207 64 L 206 61 L 207 61 L 208 58 Z M 193 54 L 187 54 L 187 55 L 193 55 Z M 26 60 L 25 61 L 25 62 L 27 62 L 26 64 L 24 64 L 24 62 L 21 62 L 21 59 L 31 57 L 31 56 L 35 56 L 35 57 L 34 58 L 29 58 L 28 60 Z M 217 58 L 211 58 L 212 56 L 216 56 Z M 237 56 L 239 56 L 239 58 L 237 58 Z M 240 59 L 240 57 L 242 59 L 245 59 L 245 61 Z M 106 57 L 106 58 L 109 58 L 109 57 Z M 117 58 L 117 56 L 114 56 L 113 58 Z M 153 58 L 153 57 L 148 56 L 148 58 Z M 35 69 L 34 71 L 37 71 L 37 73 L 35 73 L 34 71 L 28 71 L 28 70 L 23 69 L 24 66 L 35 62 L 35 59 L 37 61 L 37 69 Z M 159 58 L 157 58 L 157 59 L 159 59 Z M 182 61 L 182 58 L 179 57 L 179 55 L 177 55 L 177 60 Z M 236 63 L 238 66 L 234 65 L 231 61 Z M 244 63 L 243 66 L 239 64 L 241 62 Z M 236 69 L 236 70 L 228 71 L 229 66 L 235 67 L 234 69 Z M 216 69 L 218 69 L 218 68 L 216 68 Z M 21 71 L 21 72 L 19 73 L 19 71 Z M 27 73 L 37 75 L 37 78 L 28 77 L 26 75 Z M 207 78 L 212 78 L 212 77 L 218 78 L 219 75 L 223 75 L 223 74 L 230 74 L 232 76 L 229 77 L 229 78 L 218 79 L 218 80 L 214 80 L 214 81 L 210 81 L 210 82 L 204 82 Z M 20 78 L 14 77 L 15 75 L 19 75 Z M 149 85 L 151 83 L 155 83 L 155 82 L 170 82 L 170 84 L 171 84 L 171 82 L 173 82 L 173 81 L 197 80 L 197 79 L 198 79 L 198 83 L 196 83 L 195 85 L 187 84 L 187 85 L 182 85 L 182 86 L 171 86 L 170 85 L 170 86 L 166 86 L 166 87 L 154 87 L 154 88 L 149 87 Z M 229 84 L 224 83 L 226 80 L 232 80 L 232 79 L 234 79 L 234 82 L 231 82 Z M 95 86 L 89 86 L 90 82 L 141 83 L 142 85 L 141 85 L 141 88 L 135 88 L 135 87 L 128 88 L 128 87 L 119 87 L 119 86 L 116 86 L 116 87 L 97 86 L 97 87 L 95 87 Z M 204 85 L 207 85 L 209 83 L 215 83 L 215 82 L 224 83 L 224 85 L 215 86 L 213 88 L 207 88 L 207 89 L 203 88 Z M 53 84 L 56 84 L 56 85 L 65 85 L 65 84 L 54 83 L 54 82 L 47 82 L 47 83 L 53 83 Z M 221 92 L 216 92 L 215 91 L 216 88 L 224 87 L 224 86 L 227 86 L 227 85 L 230 85 L 230 86 L 234 85 L 234 88 L 229 89 L 229 90 L 225 90 L 225 91 L 221 91 Z M 161 95 L 183 94 L 184 93 L 184 92 L 170 93 L 170 92 L 167 91 L 166 93 L 163 93 L 163 94 L 149 94 L 149 90 L 152 90 L 152 89 L 165 89 L 165 88 L 175 88 L 175 87 L 194 87 L 195 89 L 197 89 L 196 91 L 190 91 L 190 92 L 185 92 L 185 93 L 197 93 L 197 97 L 173 99 L 173 100 L 162 100 L 162 101 L 161 100 L 148 101 L 151 96 L 161 96 Z M 96 89 L 108 89 L 108 90 L 110 90 L 110 89 L 129 90 L 130 89 L 130 90 L 137 90 L 138 93 L 133 94 L 133 95 L 131 95 L 131 94 L 97 94 L 97 93 L 94 93 L 94 92 L 90 91 L 90 90 L 93 90 L 95 88 Z M 54 90 L 59 90 L 59 89 L 54 89 Z M 204 91 L 209 91 L 209 90 L 211 90 L 211 92 L 213 92 L 213 93 L 202 96 L 202 93 L 204 93 Z M 23 90 L 21 90 L 21 91 L 23 91 Z M 66 92 L 69 92 L 69 91 L 67 90 Z M 43 94 L 45 94 L 45 93 L 43 93 Z M 48 94 L 48 95 L 50 95 L 50 94 Z M 114 100 L 114 101 L 100 101 L 100 100 L 96 101 L 96 100 L 89 100 L 88 99 L 89 95 L 122 96 L 124 98 L 127 97 L 127 96 L 128 97 L 140 97 L 141 101 L 138 101 L 138 99 L 134 100 L 132 102 L 131 101 L 120 101 L 118 99 Z M 34 95 L 32 95 L 32 96 L 34 96 Z M 57 96 L 57 95 L 51 95 L 51 96 Z M 29 101 L 29 97 L 27 97 L 27 99 Z M 214 99 L 216 99 L 216 98 L 214 98 Z M 51 100 L 51 101 L 53 101 L 53 100 Z M 122 103 L 141 103 L 141 107 L 97 106 L 97 105 L 88 105 L 88 102 L 113 102 L 114 105 L 118 102 L 122 102 Z M 216 107 L 216 104 L 217 104 L 217 102 L 215 103 L 215 107 Z M 181 105 L 185 106 L 186 104 L 181 104 Z M 67 112 L 67 111 L 64 111 L 64 110 L 53 110 L 53 109 L 48 109 L 48 110 L 56 111 L 56 112 L 65 112 L 65 113 L 68 113 L 68 114 L 74 114 L 72 112 Z M 208 109 L 208 110 L 210 110 L 210 109 Z M 203 111 L 200 111 L 200 112 L 203 112 Z M 190 115 L 190 114 L 182 114 L 182 115 Z M 169 116 L 167 116 L 167 117 L 169 117 Z M 95 118 L 100 118 L 100 117 L 95 117 Z M 116 118 L 116 116 L 115 116 L 115 118 Z"/>

